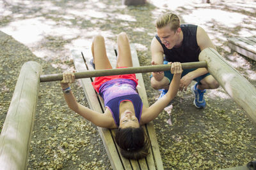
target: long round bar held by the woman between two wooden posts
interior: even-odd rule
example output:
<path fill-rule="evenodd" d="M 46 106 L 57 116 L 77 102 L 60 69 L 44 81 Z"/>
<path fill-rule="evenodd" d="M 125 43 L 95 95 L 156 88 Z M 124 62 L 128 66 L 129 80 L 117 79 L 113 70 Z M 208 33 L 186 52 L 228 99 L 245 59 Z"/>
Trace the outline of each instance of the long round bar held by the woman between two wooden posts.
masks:
<path fill-rule="evenodd" d="M 181 64 L 182 69 L 193 69 L 200 67 L 207 67 L 205 61 L 200 62 L 184 62 Z M 94 71 L 84 71 L 74 73 L 76 79 L 79 78 L 90 78 L 90 77 L 98 77 L 98 76 L 112 76 L 118 74 L 133 74 L 133 73 L 149 73 L 154 71 L 168 71 L 171 69 L 171 66 L 168 64 L 161 64 L 156 66 L 140 66 L 140 67 L 125 67 L 119 69 L 97 69 Z M 61 74 L 46 74 L 40 76 L 40 82 L 47 81 L 61 81 Z"/>

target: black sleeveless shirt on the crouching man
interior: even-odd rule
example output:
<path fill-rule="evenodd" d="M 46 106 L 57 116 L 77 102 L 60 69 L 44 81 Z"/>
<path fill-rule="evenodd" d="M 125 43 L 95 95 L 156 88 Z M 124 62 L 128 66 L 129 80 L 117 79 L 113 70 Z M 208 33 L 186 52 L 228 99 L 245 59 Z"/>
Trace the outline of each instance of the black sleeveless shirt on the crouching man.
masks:
<path fill-rule="evenodd" d="M 195 62 L 199 61 L 198 56 L 201 52 L 196 41 L 197 25 L 181 24 L 180 28 L 183 32 L 182 45 L 179 48 L 168 49 L 161 43 L 159 36 L 156 39 L 159 41 L 164 50 L 164 60 L 168 62 Z"/>

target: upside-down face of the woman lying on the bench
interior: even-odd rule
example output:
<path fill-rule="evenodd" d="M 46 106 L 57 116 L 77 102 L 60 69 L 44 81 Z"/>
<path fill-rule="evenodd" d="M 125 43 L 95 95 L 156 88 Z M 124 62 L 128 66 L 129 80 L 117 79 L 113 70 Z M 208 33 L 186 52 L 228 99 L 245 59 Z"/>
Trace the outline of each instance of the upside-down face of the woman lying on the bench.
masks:
<path fill-rule="evenodd" d="M 135 113 L 132 113 L 130 110 L 124 111 L 120 116 L 120 128 L 126 127 L 140 127 L 138 118 L 136 118 Z"/>

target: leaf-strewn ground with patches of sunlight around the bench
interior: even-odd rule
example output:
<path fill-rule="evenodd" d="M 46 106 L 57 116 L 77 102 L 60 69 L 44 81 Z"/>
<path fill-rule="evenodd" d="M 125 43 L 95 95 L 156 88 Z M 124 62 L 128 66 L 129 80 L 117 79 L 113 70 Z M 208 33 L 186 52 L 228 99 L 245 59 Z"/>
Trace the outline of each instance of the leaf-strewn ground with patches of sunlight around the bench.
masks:
<path fill-rule="evenodd" d="M 204 27 L 218 52 L 256 86 L 256 63 L 228 48 L 227 38 L 256 34 L 255 1 L 148 1 L 122 6 L 121 1 L 0 2 L 0 128 L 19 71 L 29 60 L 43 74 L 74 69 L 70 50 L 89 46 L 95 34 L 115 45 L 127 32 L 136 43 L 141 66 L 150 65 L 154 20 L 175 11 L 182 22 Z M 150 104 L 159 96 L 143 73 Z M 88 106 L 79 81 L 72 85 L 79 103 Z M 164 169 L 221 169 L 256 159 L 256 127 L 221 88 L 209 90 L 207 107 L 197 110 L 191 92 L 179 92 L 172 106 L 154 120 Z M 41 83 L 28 169 L 111 169 L 97 127 L 70 111 L 59 82 Z"/>

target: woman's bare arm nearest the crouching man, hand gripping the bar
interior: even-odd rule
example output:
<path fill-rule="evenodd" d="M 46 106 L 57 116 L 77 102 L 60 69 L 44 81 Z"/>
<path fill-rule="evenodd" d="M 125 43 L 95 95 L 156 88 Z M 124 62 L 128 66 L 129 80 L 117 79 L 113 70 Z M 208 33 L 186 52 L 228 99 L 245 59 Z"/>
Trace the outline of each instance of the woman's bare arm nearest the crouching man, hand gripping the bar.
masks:
<path fill-rule="evenodd" d="M 171 63 L 168 63 L 171 64 Z M 149 108 L 143 108 L 141 115 L 141 124 L 147 124 L 154 120 L 161 111 L 172 101 L 179 91 L 180 76 L 182 73 L 182 67 L 180 62 L 173 62 L 171 72 L 173 74 L 172 82 L 170 83 L 168 92 L 158 99 L 156 103 L 152 104 Z"/>

